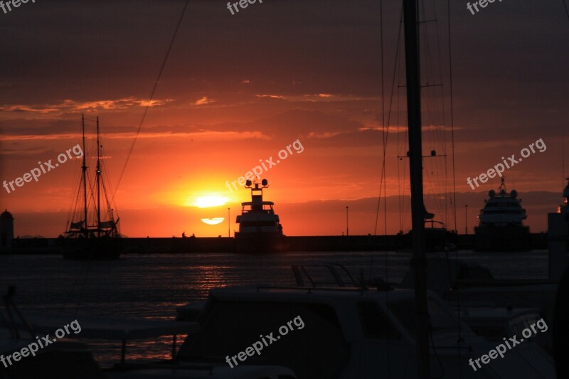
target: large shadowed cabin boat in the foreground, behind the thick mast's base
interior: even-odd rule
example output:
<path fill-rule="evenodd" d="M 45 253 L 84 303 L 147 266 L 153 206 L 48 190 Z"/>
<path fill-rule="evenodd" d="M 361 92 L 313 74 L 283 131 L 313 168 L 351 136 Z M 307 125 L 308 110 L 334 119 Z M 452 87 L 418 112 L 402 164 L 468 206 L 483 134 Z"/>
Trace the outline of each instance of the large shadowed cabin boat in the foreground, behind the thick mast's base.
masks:
<path fill-rule="evenodd" d="M 181 346 L 182 364 L 225 362 L 274 332 L 275 340 L 248 365 L 290 368 L 297 378 L 416 378 L 413 290 L 363 287 L 233 287 L 213 289 L 200 330 Z M 552 359 L 528 341 L 504 358 L 474 370 L 475 360 L 495 348 L 476 336 L 436 294 L 428 294 L 431 375 L 440 378 L 551 378 Z M 302 329 L 280 334 L 300 316 Z M 264 336 L 265 334 L 262 334 Z"/>

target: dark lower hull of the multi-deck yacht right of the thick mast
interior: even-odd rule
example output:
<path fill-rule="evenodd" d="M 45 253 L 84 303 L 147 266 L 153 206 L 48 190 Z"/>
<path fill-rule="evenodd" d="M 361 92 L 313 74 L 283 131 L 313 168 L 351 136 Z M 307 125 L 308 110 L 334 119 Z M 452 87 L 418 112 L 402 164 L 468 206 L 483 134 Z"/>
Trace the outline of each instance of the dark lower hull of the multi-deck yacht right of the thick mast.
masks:
<path fill-rule="evenodd" d="M 474 228 L 474 249 L 477 251 L 531 250 L 528 226 L 484 225 Z"/>

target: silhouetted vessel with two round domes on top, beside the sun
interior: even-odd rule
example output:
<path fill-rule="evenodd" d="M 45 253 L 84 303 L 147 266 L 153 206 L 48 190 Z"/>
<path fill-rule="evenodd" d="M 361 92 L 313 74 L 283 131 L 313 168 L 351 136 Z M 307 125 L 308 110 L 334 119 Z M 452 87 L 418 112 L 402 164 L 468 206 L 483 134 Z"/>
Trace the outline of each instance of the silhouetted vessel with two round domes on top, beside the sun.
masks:
<path fill-rule="evenodd" d="M 251 201 L 241 203 L 241 215 L 237 216 L 239 232 L 235 232 L 235 248 L 238 252 L 280 252 L 286 250 L 286 237 L 282 234 L 279 215 L 275 214 L 272 201 L 262 200 L 262 190 L 269 182 L 247 181 Z"/>

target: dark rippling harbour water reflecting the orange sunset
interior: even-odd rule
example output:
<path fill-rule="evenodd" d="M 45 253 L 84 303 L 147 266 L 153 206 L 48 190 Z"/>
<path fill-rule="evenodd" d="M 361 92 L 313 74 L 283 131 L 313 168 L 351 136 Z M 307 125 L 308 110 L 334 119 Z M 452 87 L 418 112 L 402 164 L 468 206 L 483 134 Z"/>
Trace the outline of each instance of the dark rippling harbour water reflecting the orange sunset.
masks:
<path fill-rule="evenodd" d="M 449 255 L 484 265 L 498 278 L 547 277 L 546 251 Z M 0 256 L 0 294 L 9 285 L 16 286 L 16 304 L 24 315 L 66 314 L 79 322 L 82 315 L 172 320 L 177 306 L 206 299 L 213 287 L 294 285 L 294 264 L 336 262 L 346 266 L 353 277 L 363 274 L 398 283 L 408 271 L 410 257 L 402 252 L 208 253 L 125 255 L 116 261 L 77 262 L 59 255 L 7 255 Z M 119 362 L 119 341 L 85 341 L 103 367 Z M 129 341 L 127 361 L 168 359 L 171 342 L 171 336 Z"/>

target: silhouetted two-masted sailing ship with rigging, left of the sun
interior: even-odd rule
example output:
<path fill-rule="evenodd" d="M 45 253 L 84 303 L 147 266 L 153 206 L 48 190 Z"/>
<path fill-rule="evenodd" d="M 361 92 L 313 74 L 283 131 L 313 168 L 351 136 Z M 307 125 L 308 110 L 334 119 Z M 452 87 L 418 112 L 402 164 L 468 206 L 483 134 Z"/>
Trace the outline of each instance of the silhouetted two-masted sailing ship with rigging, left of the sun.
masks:
<path fill-rule="evenodd" d="M 68 260 L 115 260 L 122 252 L 122 239 L 111 208 L 104 182 L 101 159 L 100 127 L 97 117 L 97 166 L 95 181 L 89 181 L 87 150 L 85 149 L 85 116 L 81 117 L 83 129 L 83 165 L 81 180 L 65 237 L 62 242 L 63 257 Z M 82 200 L 82 201 L 80 201 Z M 105 206 L 105 211 L 102 211 Z"/>

